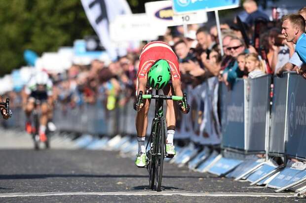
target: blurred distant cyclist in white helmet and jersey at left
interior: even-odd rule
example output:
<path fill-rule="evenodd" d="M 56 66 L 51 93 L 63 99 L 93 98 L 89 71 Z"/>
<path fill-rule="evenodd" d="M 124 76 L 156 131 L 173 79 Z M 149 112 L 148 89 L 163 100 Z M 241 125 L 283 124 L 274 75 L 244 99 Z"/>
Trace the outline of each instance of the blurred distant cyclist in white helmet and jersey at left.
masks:
<path fill-rule="evenodd" d="M 26 131 L 32 133 L 31 114 L 37 102 L 40 104 L 41 115 L 39 118 L 39 139 L 42 142 L 47 140 L 45 131 L 48 120 L 52 115 L 52 81 L 44 71 L 37 72 L 25 87 L 23 103 L 26 113 Z"/>

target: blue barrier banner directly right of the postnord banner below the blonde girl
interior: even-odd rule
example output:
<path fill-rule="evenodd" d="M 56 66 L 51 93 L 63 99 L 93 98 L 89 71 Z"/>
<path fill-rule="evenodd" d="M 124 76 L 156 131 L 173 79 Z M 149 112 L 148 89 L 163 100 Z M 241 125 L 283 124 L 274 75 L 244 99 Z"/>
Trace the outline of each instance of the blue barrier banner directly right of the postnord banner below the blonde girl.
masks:
<path fill-rule="evenodd" d="M 271 76 L 248 79 L 248 118 L 246 151 L 261 151 L 266 149 L 267 112 L 269 110 L 269 93 Z"/>

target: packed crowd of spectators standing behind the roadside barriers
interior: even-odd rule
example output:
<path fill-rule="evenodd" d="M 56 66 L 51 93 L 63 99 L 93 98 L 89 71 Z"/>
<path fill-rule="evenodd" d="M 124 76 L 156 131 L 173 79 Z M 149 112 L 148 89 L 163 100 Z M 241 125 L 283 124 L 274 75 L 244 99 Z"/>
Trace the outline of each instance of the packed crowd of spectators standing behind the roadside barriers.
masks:
<path fill-rule="evenodd" d="M 289 62 L 295 53 L 295 44 L 287 40 L 288 34 L 282 27 L 283 19 L 276 17 L 271 21 L 258 9 L 254 0 L 245 0 L 243 7 L 244 11 L 232 22 L 220 25 L 222 47 L 217 26 L 208 28 L 192 24 L 188 26 L 187 34 L 181 26 L 171 27 L 158 38 L 169 43 L 177 54 L 183 87 L 195 87 L 210 77 L 218 77 L 230 88 L 236 78 L 281 75 L 285 70 L 296 69 L 305 74 L 303 65 L 301 68 Z M 296 25 L 300 21 L 295 19 L 301 16 L 306 19 L 306 7 L 290 16 L 284 19 L 293 19 L 290 21 Z M 50 74 L 55 101 L 65 112 L 68 106 L 73 108 L 97 101 L 113 110 L 134 100 L 139 54 L 145 44 L 141 43 L 137 51 L 130 51 L 117 61 L 96 59 L 90 65 L 74 64 L 64 73 Z M 18 100 L 17 93 L 9 94 L 11 99 Z"/>

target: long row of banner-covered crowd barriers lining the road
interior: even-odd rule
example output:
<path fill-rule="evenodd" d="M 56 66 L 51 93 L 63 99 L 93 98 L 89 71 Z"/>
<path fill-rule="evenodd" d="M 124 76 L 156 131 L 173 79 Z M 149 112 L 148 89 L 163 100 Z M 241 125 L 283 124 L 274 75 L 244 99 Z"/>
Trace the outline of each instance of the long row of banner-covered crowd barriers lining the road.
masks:
<path fill-rule="evenodd" d="M 203 145 L 219 144 L 222 140 L 223 149 L 246 154 L 268 151 L 271 156 L 285 154 L 305 160 L 306 104 L 303 87 L 306 81 L 293 72 L 273 79 L 271 114 L 271 77 L 268 75 L 250 80 L 238 79 L 231 90 L 224 83 L 219 84 L 216 77 L 196 87 L 188 86 L 185 91 L 191 112 L 187 115 L 179 113 L 176 138 L 190 138 Z M 218 99 L 222 125 L 218 116 Z M 133 102 L 131 100 L 111 111 L 105 108 L 102 101 L 76 107 L 57 103 L 53 122 L 61 131 L 109 136 L 136 135 Z M 20 107 L 12 110 L 14 114 L 5 121 L 5 126 L 24 129 L 23 110 Z M 153 113 L 152 105 L 148 134 Z"/>

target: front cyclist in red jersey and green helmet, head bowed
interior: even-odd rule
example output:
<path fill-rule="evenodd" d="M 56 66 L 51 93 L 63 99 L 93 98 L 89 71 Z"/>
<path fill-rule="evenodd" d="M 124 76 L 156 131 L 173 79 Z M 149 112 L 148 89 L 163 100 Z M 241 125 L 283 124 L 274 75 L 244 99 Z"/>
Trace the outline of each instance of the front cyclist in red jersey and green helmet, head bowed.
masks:
<path fill-rule="evenodd" d="M 170 75 L 171 80 L 169 82 Z M 183 96 L 178 59 L 169 44 L 162 41 L 152 41 L 143 48 L 140 55 L 136 88 L 136 95 L 140 91 L 146 92 L 145 90 L 147 90 L 147 93 L 149 93 L 152 89 L 162 89 L 166 96 L 171 96 L 173 93 L 176 96 Z M 139 106 L 137 102 L 134 103 L 134 109 L 138 111 L 136 116 L 138 154 L 135 161 L 137 167 L 146 166 L 145 136 L 148 128 L 150 102 L 151 100 L 145 99 Z M 169 157 L 173 157 L 175 155 L 173 136 L 175 134 L 177 109 L 174 108 L 172 100 L 167 100 L 166 103 L 166 153 Z M 182 102 L 179 102 L 179 105 L 183 113 L 189 112 L 189 106 L 185 109 Z"/>

